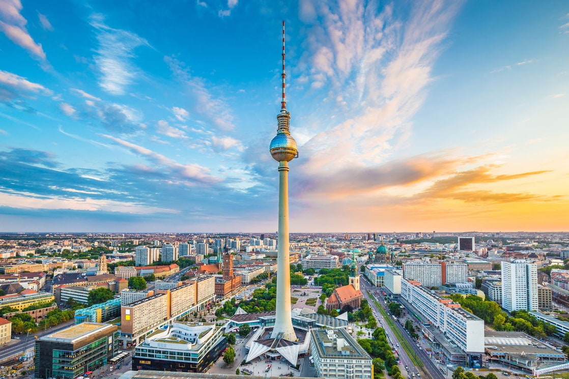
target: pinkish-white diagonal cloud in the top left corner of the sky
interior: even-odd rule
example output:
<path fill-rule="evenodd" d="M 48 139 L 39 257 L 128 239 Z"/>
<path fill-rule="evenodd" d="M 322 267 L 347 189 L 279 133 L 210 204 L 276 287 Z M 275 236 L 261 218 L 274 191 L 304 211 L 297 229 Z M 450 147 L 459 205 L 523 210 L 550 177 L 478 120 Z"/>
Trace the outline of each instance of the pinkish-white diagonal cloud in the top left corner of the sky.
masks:
<path fill-rule="evenodd" d="M 46 60 L 42 44 L 35 43 L 26 29 L 27 20 L 20 14 L 20 0 L 0 2 L 0 30 L 15 44 L 26 49 L 41 60 Z"/>

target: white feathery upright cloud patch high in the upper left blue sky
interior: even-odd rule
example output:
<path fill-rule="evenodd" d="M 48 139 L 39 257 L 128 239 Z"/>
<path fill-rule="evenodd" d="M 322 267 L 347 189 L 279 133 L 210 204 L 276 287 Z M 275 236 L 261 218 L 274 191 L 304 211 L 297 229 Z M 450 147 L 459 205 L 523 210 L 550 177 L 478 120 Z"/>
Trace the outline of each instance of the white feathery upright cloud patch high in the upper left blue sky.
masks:
<path fill-rule="evenodd" d="M 134 50 L 139 46 L 150 46 L 146 39 L 104 23 L 101 14 L 94 14 L 90 24 L 95 28 L 99 47 L 94 61 L 101 72 L 99 85 L 114 95 L 125 94 L 126 87 L 133 83 L 139 69 L 131 62 Z"/>

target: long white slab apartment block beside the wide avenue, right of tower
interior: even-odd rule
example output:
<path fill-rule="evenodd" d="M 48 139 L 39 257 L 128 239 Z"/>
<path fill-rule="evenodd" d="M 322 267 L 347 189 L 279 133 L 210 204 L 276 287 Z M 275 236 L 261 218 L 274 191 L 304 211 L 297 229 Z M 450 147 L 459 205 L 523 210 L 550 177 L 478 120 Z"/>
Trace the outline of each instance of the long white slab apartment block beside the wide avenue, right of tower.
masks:
<path fill-rule="evenodd" d="M 404 279 L 401 296 L 465 353 L 484 353 L 484 320 L 463 310 L 451 299 L 431 294 L 417 281 Z"/>

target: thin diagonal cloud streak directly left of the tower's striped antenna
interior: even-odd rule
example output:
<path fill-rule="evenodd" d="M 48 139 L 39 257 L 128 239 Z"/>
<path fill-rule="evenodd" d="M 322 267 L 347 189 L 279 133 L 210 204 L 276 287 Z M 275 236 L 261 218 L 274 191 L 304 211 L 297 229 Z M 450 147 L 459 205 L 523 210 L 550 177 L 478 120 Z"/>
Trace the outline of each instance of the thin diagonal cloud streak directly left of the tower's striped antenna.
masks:
<path fill-rule="evenodd" d="M 229 106 L 221 98 L 216 98 L 205 84 L 205 80 L 189 75 L 184 63 L 175 57 L 166 56 L 164 61 L 182 83 L 187 86 L 189 95 L 195 100 L 194 112 L 206 117 L 213 126 L 222 130 L 233 129 L 233 116 Z"/>

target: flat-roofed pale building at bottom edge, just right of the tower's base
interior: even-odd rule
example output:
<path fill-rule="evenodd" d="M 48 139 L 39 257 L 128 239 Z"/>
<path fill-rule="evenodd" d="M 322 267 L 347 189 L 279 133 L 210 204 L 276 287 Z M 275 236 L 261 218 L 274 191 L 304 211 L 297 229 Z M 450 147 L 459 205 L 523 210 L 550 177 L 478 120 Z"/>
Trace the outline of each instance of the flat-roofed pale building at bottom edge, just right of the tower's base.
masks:
<path fill-rule="evenodd" d="M 344 328 L 310 329 L 310 351 L 316 377 L 373 378 L 372 358 Z"/>

